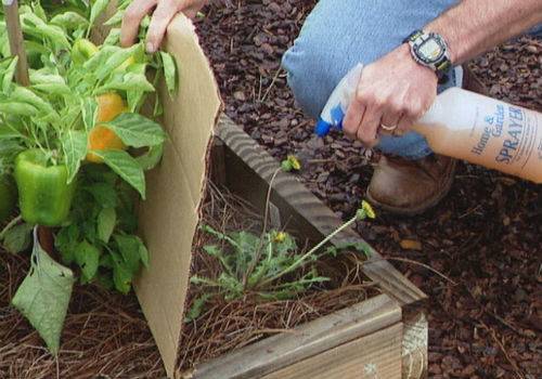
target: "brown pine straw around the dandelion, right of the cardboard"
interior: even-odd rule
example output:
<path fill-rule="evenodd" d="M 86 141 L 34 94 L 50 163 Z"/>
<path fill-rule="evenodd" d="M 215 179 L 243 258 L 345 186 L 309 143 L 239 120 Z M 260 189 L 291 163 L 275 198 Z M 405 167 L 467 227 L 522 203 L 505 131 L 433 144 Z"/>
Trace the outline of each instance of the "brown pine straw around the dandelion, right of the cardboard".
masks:
<path fill-rule="evenodd" d="M 210 186 L 204 209 L 203 223 L 217 231 L 251 231 L 261 233 L 262 217 L 243 199 Z M 295 232 L 294 232 L 295 233 Z M 195 246 L 212 244 L 207 234 L 198 233 Z M 298 245 L 304 241 L 298 239 Z M 216 244 L 216 241 L 215 241 Z M 305 244 L 307 246 L 307 243 Z M 196 249 L 202 251 L 201 248 Z M 194 323 L 185 325 L 181 338 L 180 367 L 190 368 L 196 363 L 254 343 L 262 338 L 287 331 L 296 326 L 348 308 L 377 293 L 374 284 L 361 273 L 360 254 L 346 252 L 337 260 L 320 262 L 319 273 L 331 278 L 325 285 L 315 286 L 297 299 L 261 302 L 246 296 L 225 302 L 220 296 L 212 298 L 207 311 Z M 220 265 L 215 258 L 196 253 L 193 273 L 198 276 L 218 277 Z M 189 305 L 202 295 L 203 289 L 191 286 Z"/>

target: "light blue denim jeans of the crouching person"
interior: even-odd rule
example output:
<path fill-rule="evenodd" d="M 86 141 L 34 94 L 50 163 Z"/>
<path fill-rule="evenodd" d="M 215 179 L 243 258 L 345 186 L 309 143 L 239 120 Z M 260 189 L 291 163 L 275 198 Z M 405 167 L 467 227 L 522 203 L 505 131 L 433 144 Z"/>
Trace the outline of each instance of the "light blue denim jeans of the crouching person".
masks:
<path fill-rule="evenodd" d="M 283 66 L 288 84 L 304 110 L 318 118 L 340 79 L 358 63 L 378 60 L 401 44 L 413 30 L 423 28 L 455 0 L 320 0 L 308 16 L 300 36 L 285 53 Z M 534 32 L 542 32 L 540 25 Z M 456 74 L 440 86 L 461 86 Z M 385 73 L 383 73 L 385 75 Z M 420 159 L 431 149 L 417 133 L 382 136 L 377 146 L 386 154 Z"/>

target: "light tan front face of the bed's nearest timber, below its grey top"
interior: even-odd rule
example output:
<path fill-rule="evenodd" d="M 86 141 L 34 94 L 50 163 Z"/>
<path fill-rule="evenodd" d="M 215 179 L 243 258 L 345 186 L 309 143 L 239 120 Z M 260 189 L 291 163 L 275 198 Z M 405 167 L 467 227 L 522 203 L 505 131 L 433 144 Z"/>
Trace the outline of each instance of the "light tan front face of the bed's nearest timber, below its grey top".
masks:
<path fill-rule="evenodd" d="M 262 379 L 400 379 L 401 339 L 399 323 Z"/>

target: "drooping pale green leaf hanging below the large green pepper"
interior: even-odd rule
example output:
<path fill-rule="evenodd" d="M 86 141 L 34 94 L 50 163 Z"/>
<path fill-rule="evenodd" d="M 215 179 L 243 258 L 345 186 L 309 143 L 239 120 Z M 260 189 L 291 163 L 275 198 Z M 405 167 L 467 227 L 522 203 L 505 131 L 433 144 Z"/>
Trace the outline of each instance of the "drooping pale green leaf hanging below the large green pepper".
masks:
<path fill-rule="evenodd" d="M 12 304 L 38 330 L 53 355 L 59 353 L 74 282 L 72 270 L 56 263 L 41 249 L 35 230 L 30 271 Z"/>

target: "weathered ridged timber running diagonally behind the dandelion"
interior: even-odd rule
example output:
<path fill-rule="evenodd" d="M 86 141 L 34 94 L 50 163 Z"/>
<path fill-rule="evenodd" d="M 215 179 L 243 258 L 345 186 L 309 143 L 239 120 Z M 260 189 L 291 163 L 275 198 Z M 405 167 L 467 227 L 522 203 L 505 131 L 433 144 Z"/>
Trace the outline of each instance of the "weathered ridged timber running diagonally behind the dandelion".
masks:
<path fill-rule="evenodd" d="M 264 196 L 273 181 L 272 202 L 281 209 L 281 218 L 286 224 L 294 224 L 309 237 L 320 239 L 340 226 L 340 220 L 319 198 L 310 193 L 297 179 L 280 171 L 279 162 L 258 145 L 248 134 L 242 131 L 225 115 L 222 115 L 217 130 L 218 138 L 225 143 L 227 181 L 234 191 L 244 195 L 260 209 L 264 207 Z M 250 185 L 247 185 L 250 183 Z M 349 228 L 340 233 L 334 240 L 363 241 Z M 382 256 L 372 250 L 372 258 L 363 265 L 363 271 L 371 279 L 378 283 L 389 296 L 401 304 L 424 301 L 426 296 L 410 280 L 402 276 Z"/>

